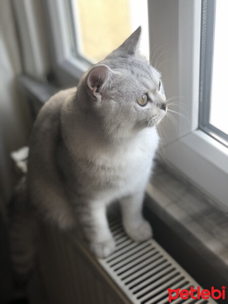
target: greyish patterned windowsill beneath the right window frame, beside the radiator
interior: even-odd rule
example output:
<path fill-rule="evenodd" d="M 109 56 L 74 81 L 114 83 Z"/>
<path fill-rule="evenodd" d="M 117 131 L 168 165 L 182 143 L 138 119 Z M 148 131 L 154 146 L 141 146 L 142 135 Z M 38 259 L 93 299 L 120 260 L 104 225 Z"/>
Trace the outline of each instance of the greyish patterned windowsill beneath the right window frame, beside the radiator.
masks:
<path fill-rule="evenodd" d="M 219 209 L 198 188 L 159 163 L 146 193 L 150 198 L 145 200 L 146 207 L 226 278 L 228 208 Z"/>

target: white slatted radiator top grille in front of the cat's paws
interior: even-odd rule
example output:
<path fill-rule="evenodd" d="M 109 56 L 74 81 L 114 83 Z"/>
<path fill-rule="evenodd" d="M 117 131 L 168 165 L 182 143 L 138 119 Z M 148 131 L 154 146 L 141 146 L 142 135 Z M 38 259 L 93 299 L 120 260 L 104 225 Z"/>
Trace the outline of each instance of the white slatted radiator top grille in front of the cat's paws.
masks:
<path fill-rule="evenodd" d="M 167 288 L 190 290 L 199 286 L 155 240 L 140 244 L 132 241 L 116 219 L 110 221 L 110 229 L 117 249 L 99 263 L 134 304 L 166 304 Z M 182 302 L 216 303 L 212 298 L 172 300 L 172 304 Z"/>

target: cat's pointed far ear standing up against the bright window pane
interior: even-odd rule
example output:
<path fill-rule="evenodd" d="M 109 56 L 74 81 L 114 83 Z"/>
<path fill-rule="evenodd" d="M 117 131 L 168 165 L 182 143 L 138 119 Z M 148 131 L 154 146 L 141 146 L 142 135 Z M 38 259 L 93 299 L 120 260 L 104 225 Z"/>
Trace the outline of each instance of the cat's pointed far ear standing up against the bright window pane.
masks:
<path fill-rule="evenodd" d="M 121 56 L 122 54 L 134 55 L 138 50 L 140 34 L 141 26 L 139 26 L 119 48 L 111 52 L 107 57 Z"/>

